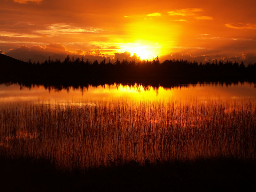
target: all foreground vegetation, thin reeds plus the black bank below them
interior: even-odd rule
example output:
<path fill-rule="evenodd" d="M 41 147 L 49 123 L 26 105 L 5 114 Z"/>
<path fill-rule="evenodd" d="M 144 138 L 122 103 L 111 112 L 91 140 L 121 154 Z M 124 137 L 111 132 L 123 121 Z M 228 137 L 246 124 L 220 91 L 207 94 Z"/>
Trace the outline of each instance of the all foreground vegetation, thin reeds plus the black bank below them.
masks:
<path fill-rule="evenodd" d="M 255 104 L 149 104 L 1 107 L 1 191 L 255 191 Z"/>

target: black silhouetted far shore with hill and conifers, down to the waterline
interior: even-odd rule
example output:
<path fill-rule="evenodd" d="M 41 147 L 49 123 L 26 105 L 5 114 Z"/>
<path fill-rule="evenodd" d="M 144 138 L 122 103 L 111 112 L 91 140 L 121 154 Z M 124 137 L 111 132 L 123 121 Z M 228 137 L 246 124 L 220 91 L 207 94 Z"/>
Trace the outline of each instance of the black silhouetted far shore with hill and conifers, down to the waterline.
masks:
<path fill-rule="evenodd" d="M 218 81 L 252 80 L 256 75 L 256 63 L 244 64 L 232 61 L 213 60 L 198 63 L 188 60 L 95 60 L 84 58 L 64 61 L 48 60 L 44 62 L 22 62 L 0 54 L 1 81 L 23 81 L 34 83 L 65 84 L 67 82 L 109 81 L 137 83 L 167 83 L 170 81 Z"/>

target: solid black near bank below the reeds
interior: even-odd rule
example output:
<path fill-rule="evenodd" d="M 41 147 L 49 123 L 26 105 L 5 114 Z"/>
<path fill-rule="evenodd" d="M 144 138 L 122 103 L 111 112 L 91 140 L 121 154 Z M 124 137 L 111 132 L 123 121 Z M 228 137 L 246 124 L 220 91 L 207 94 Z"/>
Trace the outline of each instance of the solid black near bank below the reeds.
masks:
<path fill-rule="evenodd" d="M 45 160 L 0 159 L 1 191 L 254 191 L 256 164 L 235 159 L 63 171 Z"/>

